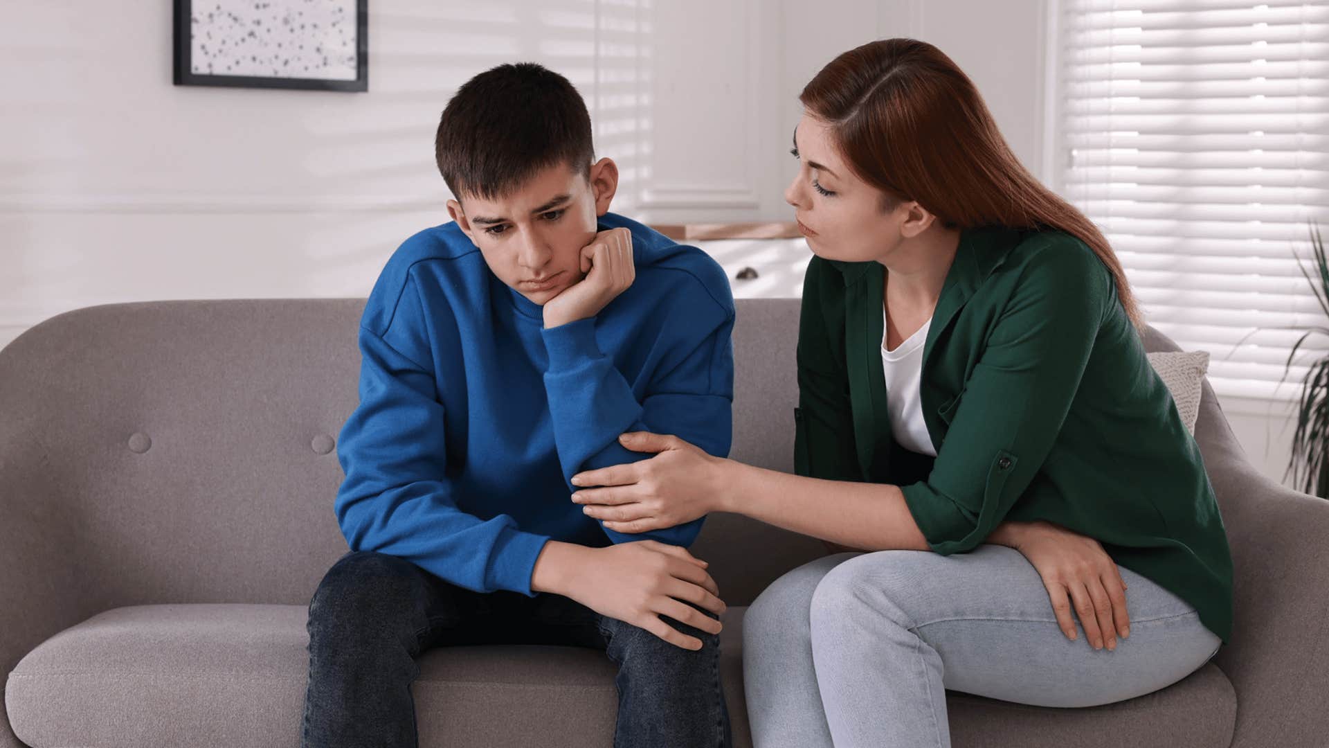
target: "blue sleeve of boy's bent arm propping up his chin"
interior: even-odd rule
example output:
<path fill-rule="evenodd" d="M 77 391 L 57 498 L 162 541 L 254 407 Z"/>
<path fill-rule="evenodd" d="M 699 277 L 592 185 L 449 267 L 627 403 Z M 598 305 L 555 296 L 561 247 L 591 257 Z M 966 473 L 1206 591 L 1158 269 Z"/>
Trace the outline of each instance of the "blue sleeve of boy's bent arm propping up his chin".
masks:
<path fill-rule="evenodd" d="M 723 276 L 720 276 L 723 281 Z M 700 286 L 698 286 L 700 289 Z M 734 302 L 724 295 L 675 298 L 666 311 L 661 339 L 666 355 L 641 402 L 614 361 L 595 342 L 595 319 L 579 319 L 544 331 L 549 351 L 545 389 L 554 442 L 569 491 L 571 476 L 585 470 L 649 459 L 618 443 L 626 431 L 672 434 L 707 454 L 728 457 L 734 405 Z M 704 291 L 703 291 L 704 293 Z M 696 294 L 698 297 L 703 294 Z M 704 518 L 639 534 L 605 530 L 614 543 L 659 540 L 690 546 Z M 603 527 L 603 522 L 601 523 Z"/>

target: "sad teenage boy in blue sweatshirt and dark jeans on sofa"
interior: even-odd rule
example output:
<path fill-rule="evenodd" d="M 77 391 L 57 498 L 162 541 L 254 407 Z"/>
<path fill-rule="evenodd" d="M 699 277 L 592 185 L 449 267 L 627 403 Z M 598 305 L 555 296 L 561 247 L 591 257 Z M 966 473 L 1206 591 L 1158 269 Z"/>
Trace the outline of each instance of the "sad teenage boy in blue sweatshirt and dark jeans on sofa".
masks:
<path fill-rule="evenodd" d="M 728 745 L 724 603 L 684 550 L 702 520 L 625 535 L 570 499 L 574 474 L 651 457 L 623 433 L 727 455 L 728 282 L 609 213 L 618 168 L 540 65 L 461 87 L 435 148 L 453 221 L 393 253 L 360 321 L 338 438 L 351 552 L 310 603 L 303 744 L 413 747 L 424 650 L 530 643 L 618 664 L 615 747 Z"/>

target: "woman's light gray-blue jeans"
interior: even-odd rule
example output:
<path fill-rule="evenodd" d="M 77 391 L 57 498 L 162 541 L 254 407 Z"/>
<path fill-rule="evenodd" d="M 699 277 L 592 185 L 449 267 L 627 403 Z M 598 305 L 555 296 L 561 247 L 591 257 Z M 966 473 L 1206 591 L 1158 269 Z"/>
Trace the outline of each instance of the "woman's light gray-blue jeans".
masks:
<path fill-rule="evenodd" d="M 1014 548 L 837 554 L 771 584 L 743 618 L 756 748 L 950 745 L 945 689 L 1088 707 L 1181 680 L 1220 640 L 1189 604 L 1130 570 L 1131 635 L 1094 650 L 1053 615 Z M 1078 620 L 1076 620 L 1078 623 Z"/>

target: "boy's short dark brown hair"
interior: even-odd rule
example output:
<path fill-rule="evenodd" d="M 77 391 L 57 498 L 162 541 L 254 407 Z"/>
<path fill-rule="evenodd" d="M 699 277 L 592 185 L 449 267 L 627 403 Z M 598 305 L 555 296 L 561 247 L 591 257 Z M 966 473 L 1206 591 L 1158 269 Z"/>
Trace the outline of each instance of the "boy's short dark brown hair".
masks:
<path fill-rule="evenodd" d="M 493 200 L 554 164 L 589 174 L 590 114 L 563 76 L 534 63 L 498 65 L 448 102 L 433 153 L 453 196 Z"/>

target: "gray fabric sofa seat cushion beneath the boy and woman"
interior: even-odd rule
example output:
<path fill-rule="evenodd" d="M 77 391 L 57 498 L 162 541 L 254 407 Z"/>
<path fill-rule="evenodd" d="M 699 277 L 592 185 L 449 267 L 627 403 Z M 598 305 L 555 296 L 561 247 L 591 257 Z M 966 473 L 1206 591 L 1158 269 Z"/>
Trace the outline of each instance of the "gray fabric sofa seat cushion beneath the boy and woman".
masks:
<path fill-rule="evenodd" d="M 750 745 L 742 615 L 722 635 L 735 745 Z M 303 606 L 136 606 L 98 614 L 29 652 L 5 703 L 20 740 L 54 745 L 296 747 L 308 667 Z M 421 748 L 610 745 L 614 665 L 565 647 L 455 647 L 420 657 Z M 1227 745 L 1231 683 L 1212 663 L 1158 693 L 1043 709 L 949 693 L 954 744 Z"/>

